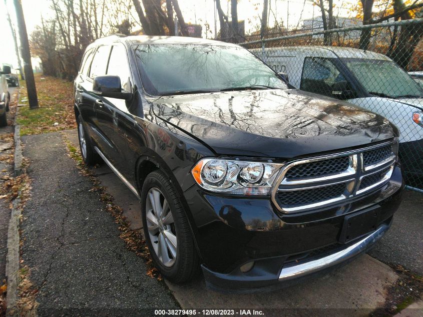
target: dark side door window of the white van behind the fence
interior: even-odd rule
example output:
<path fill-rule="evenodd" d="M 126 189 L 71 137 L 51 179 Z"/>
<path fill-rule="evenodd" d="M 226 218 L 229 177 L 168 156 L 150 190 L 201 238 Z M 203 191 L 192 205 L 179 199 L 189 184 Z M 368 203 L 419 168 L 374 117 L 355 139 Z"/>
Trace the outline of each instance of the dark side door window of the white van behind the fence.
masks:
<path fill-rule="evenodd" d="M 325 58 L 306 57 L 300 89 L 332 97 L 332 85 L 345 81 L 335 65 Z"/>

